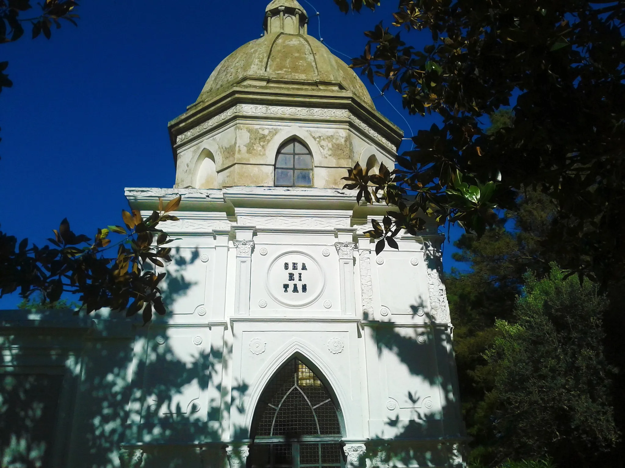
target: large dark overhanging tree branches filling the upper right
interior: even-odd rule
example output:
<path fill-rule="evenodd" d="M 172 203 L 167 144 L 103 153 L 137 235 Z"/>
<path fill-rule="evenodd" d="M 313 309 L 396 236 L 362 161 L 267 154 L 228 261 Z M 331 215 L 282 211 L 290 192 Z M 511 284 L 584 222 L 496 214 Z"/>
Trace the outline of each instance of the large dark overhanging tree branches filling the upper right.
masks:
<path fill-rule="evenodd" d="M 542 250 L 582 277 L 625 281 L 625 3 L 400 0 L 391 22 L 365 33 L 352 67 L 385 80 L 382 90 L 399 92 L 410 114 L 441 115 L 442 126 L 412 137 L 415 149 L 388 183 L 351 173 L 349 187 L 478 236 L 496 223 L 493 205 L 515 210 L 532 187 L 557 206 Z M 414 47 L 394 27 L 431 42 Z M 457 189 L 458 174 L 467 190 Z M 492 195 L 477 197 L 471 187 L 487 182 Z M 416 218 L 396 224 L 404 222 L 423 227 Z"/>

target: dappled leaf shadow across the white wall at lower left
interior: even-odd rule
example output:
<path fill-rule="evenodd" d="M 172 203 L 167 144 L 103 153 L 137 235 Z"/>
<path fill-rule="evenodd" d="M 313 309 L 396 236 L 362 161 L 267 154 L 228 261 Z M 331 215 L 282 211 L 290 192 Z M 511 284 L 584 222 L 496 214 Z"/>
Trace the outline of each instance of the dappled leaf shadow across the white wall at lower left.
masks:
<path fill-rule="evenodd" d="M 199 255 L 183 261 L 200 261 Z M 194 285 L 176 273 L 163 281 L 174 299 Z M 202 450 L 221 440 L 219 422 L 229 413 L 221 405 L 217 369 L 231 363 L 221 349 L 211 348 L 211 339 L 191 346 L 193 351 L 181 358 L 176 337 L 162 333 L 171 313 L 147 326 L 140 313 L 134 319 L 106 311 L 38 314 L 68 325 L 32 328 L 7 322 L 11 329 L 0 333 L 8 366 L 0 379 L 2 467 L 153 466 L 164 455 L 159 449 L 145 449 L 128 462 L 120 460 L 121 448 L 182 441 L 192 444 L 168 450 L 167 466 L 202 466 Z M 204 401 L 185 401 L 194 389 Z"/>

